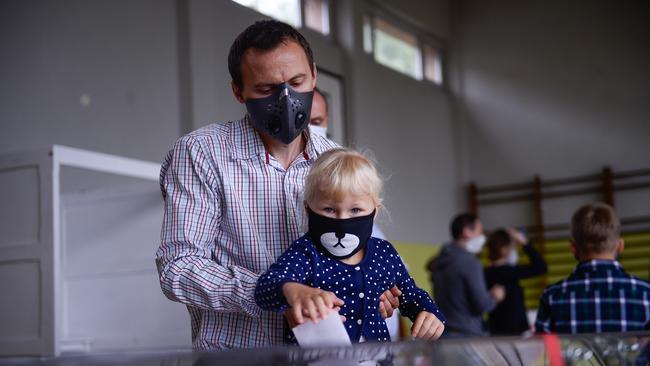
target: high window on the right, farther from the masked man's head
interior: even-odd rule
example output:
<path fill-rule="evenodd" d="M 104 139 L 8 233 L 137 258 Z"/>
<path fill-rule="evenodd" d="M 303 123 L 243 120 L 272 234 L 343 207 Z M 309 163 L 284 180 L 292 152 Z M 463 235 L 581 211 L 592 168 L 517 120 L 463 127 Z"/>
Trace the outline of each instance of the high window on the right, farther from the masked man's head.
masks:
<path fill-rule="evenodd" d="M 375 61 L 416 80 L 443 84 L 439 48 L 383 19 L 363 17 L 363 49 Z"/>

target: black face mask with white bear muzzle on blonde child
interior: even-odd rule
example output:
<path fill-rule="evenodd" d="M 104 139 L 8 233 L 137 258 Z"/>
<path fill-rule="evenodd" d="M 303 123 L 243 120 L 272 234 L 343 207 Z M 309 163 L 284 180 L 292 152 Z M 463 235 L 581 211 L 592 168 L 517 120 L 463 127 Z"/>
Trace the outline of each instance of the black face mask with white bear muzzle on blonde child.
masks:
<path fill-rule="evenodd" d="M 372 234 L 375 211 L 370 215 L 350 219 L 332 219 L 307 208 L 309 236 L 327 255 L 345 259 L 365 248 Z"/>

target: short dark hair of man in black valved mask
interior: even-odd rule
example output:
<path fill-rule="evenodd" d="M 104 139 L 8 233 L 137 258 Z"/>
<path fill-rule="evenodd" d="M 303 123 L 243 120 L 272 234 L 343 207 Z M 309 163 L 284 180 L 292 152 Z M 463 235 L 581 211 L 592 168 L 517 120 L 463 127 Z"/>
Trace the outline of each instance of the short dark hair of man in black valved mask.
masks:
<path fill-rule="evenodd" d="M 259 20 L 244 29 L 230 46 L 228 71 L 235 85 L 240 89 L 243 86 L 241 62 L 247 50 L 255 48 L 269 51 L 288 41 L 294 41 L 302 47 L 313 74 L 314 55 L 305 37 L 289 24 L 277 20 Z"/>

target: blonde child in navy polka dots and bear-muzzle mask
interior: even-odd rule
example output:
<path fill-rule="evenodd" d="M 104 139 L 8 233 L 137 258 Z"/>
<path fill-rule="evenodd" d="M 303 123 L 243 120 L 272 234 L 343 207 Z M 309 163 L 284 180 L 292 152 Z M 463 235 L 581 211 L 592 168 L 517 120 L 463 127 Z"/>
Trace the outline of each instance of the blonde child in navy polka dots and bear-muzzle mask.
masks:
<path fill-rule="evenodd" d="M 324 319 L 340 310 L 352 342 L 390 341 L 379 297 L 397 285 L 400 312 L 418 339 L 437 339 L 444 318 L 415 286 L 393 246 L 371 237 L 382 181 L 372 162 L 348 149 L 321 155 L 305 181 L 309 231 L 257 282 L 255 301 L 285 312 L 290 324 Z"/>

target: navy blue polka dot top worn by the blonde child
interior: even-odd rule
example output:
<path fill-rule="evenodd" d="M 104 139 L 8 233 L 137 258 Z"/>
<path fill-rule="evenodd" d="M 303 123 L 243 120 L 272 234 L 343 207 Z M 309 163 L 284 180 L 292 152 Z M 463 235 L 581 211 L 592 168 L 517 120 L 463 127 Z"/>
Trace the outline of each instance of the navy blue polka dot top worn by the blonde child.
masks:
<path fill-rule="evenodd" d="M 264 310 L 284 312 L 289 306 L 282 285 L 298 282 L 331 291 L 345 302 L 341 315 L 352 342 L 390 341 L 386 322 L 379 315 L 379 296 L 394 285 L 402 291 L 399 310 L 415 321 L 421 311 L 445 321 L 431 297 L 418 288 L 395 248 L 371 237 L 363 260 L 348 265 L 325 255 L 308 235 L 296 240 L 257 281 L 255 301 Z"/>

